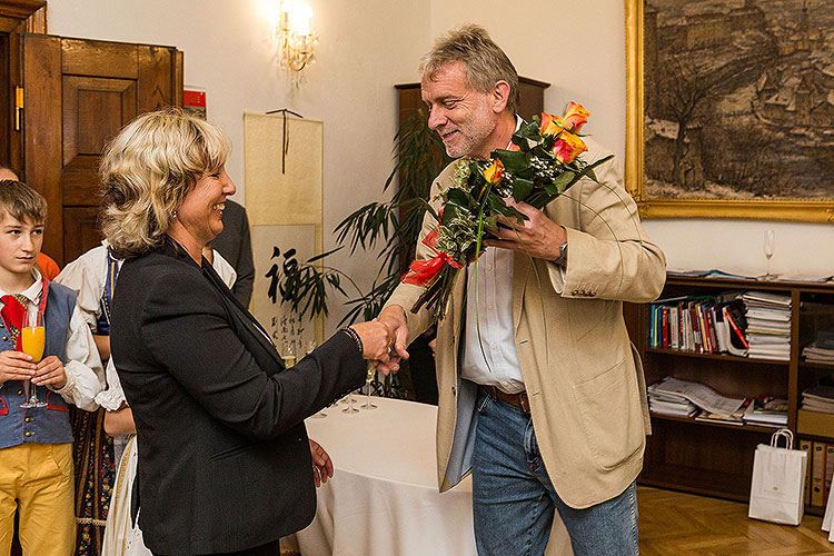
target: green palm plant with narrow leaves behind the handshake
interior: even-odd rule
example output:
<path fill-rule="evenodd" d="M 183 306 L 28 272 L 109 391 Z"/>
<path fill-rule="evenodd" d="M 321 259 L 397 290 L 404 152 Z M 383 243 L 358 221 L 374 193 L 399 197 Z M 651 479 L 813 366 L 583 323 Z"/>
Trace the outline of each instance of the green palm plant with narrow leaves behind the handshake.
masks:
<path fill-rule="evenodd" d="M 339 222 L 335 229 L 339 244 L 336 249 L 306 261 L 296 260 L 291 251 L 284 254 L 278 292 L 281 302 L 289 304 L 301 317 L 307 311 L 327 315 L 328 296 L 338 292 L 349 307 L 339 325 L 374 318 L 414 259 L 431 181 L 451 159 L 446 156 L 440 138 L 428 128 L 421 109 L 403 122 L 394 142 L 397 163 L 383 186 L 383 192 L 387 192 L 398 185 L 391 199 L 365 205 Z M 329 255 L 345 248 L 351 255 L 358 249 L 377 251 L 379 267 L 368 291 L 363 291 L 345 272 L 325 264 Z M 350 294 L 345 282 L 350 285 Z M 420 344 L 415 348 L 415 353 L 426 351 Z M 413 383 L 417 373 L 430 376 L 434 383 L 434 360 L 430 356 L 415 357 L 415 353 L 410 368 L 405 365 L 399 376 L 375 381 L 375 393 L 403 397 L 404 390 L 410 389 L 404 388 L 404 383 Z"/>

